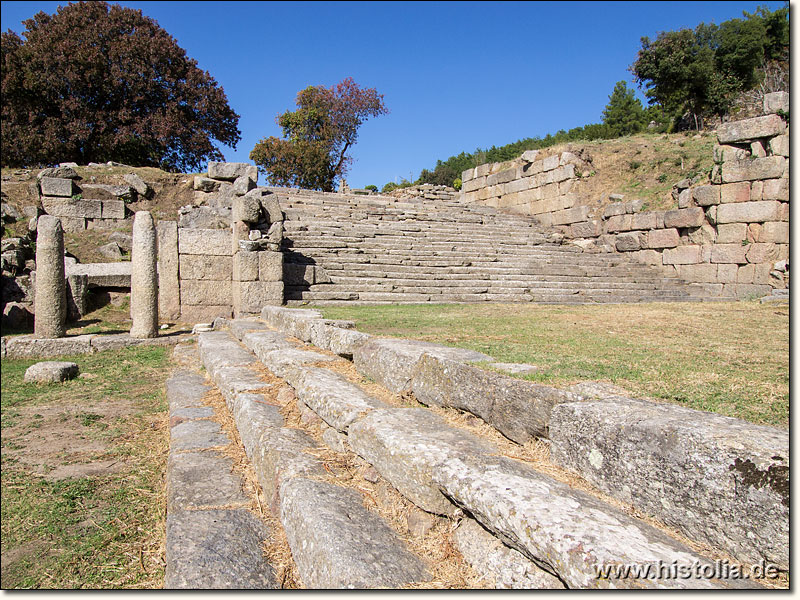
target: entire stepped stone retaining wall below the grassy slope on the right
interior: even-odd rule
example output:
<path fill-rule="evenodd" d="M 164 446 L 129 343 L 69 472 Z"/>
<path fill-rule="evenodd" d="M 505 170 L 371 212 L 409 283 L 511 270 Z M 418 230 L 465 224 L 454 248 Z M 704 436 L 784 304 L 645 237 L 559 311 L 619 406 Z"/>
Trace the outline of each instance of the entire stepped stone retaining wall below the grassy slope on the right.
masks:
<path fill-rule="evenodd" d="M 764 97 L 763 116 L 717 129 L 715 166 L 673 189 L 678 208 L 641 212 L 614 202 L 592 214 L 572 192 L 580 161 L 564 152 L 464 172 L 463 199 L 532 214 L 589 252 L 624 252 L 711 296 L 746 298 L 788 287 L 789 94 Z"/>

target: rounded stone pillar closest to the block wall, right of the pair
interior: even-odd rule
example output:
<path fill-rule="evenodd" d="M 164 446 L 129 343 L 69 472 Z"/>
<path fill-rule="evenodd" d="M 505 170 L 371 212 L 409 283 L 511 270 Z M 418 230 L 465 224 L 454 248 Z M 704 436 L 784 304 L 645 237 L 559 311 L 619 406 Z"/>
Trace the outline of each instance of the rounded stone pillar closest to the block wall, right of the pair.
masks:
<path fill-rule="evenodd" d="M 133 217 L 131 250 L 131 337 L 158 336 L 158 266 L 156 228 L 146 210 Z"/>

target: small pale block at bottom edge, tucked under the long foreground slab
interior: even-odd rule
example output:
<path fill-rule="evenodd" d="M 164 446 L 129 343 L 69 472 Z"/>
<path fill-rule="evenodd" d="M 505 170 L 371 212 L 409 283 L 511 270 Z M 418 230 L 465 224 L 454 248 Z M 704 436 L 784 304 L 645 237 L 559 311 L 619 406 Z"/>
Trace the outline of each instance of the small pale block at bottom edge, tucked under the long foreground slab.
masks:
<path fill-rule="evenodd" d="M 495 589 L 563 590 L 564 584 L 475 520 L 465 517 L 452 534 L 464 560 L 494 580 Z"/>

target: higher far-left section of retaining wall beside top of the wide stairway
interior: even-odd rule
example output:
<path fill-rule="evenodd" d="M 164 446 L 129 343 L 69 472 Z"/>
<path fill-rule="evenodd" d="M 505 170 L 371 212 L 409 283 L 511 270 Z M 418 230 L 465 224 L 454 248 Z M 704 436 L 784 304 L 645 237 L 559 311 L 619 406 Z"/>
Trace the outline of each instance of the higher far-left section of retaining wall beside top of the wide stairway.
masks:
<path fill-rule="evenodd" d="M 461 175 L 462 200 L 536 216 L 544 225 L 585 221 L 589 207 L 579 206 L 573 186 L 586 163 L 571 152 L 537 159 L 538 150 L 520 158 L 468 169 Z"/>

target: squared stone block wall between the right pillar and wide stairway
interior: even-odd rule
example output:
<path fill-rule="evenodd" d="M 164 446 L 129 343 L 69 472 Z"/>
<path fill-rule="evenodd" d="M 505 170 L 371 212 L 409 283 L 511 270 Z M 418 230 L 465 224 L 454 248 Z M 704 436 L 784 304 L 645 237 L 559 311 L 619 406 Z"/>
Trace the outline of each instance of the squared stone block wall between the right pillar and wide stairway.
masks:
<path fill-rule="evenodd" d="M 257 178 L 252 165 L 210 162 L 178 222 L 158 224 L 162 320 L 210 321 L 283 303 L 283 213 Z"/>

